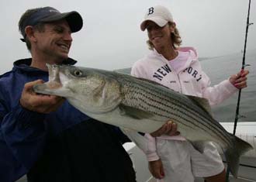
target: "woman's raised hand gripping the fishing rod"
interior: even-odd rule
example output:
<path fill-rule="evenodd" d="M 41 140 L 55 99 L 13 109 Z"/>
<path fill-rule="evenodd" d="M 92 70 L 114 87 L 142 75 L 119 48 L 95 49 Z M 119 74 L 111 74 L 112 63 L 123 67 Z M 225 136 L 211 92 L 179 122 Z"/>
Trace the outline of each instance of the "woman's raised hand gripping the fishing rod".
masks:
<path fill-rule="evenodd" d="M 236 88 L 246 88 L 247 87 L 247 74 L 248 70 L 240 71 L 237 74 L 234 74 L 230 77 L 230 83 L 233 84 Z"/>

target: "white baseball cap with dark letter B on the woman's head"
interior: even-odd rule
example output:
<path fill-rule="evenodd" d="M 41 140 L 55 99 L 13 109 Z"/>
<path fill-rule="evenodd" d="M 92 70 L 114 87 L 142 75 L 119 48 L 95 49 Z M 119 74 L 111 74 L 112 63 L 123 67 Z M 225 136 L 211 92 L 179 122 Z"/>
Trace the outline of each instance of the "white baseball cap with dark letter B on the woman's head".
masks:
<path fill-rule="evenodd" d="M 155 5 L 147 9 L 147 13 L 144 16 L 144 21 L 140 24 L 140 29 L 144 31 L 146 29 L 147 21 L 157 23 L 157 26 L 165 26 L 168 22 L 173 22 L 171 12 L 162 5 Z"/>

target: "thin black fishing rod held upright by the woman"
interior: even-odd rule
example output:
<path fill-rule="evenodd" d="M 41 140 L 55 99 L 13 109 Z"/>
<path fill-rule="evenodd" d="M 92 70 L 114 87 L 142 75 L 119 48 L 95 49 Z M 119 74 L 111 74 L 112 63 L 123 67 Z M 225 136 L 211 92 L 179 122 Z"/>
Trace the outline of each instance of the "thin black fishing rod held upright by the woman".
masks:
<path fill-rule="evenodd" d="M 248 64 L 245 64 L 245 53 L 246 53 L 248 28 L 249 28 L 249 26 L 253 25 L 253 23 L 250 23 L 250 21 L 249 21 L 250 9 L 251 9 L 251 0 L 249 0 L 248 13 L 247 13 L 247 23 L 246 23 L 245 39 L 244 39 L 244 55 L 243 55 L 242 67 L 241 67 L 241 70 L 240 70 L 241 74 L 244 72 L 244 67 L 249 66 Z M 242 91 L 242 89 L 240 88 L 239 92 L 238 92 L 237 109 L 236 109 L 236 116 L 235 116 L 235 120 L 234 120 L 234 131 L 233 131 L 234 135 L 236 134 L 236 130 L 237 130 L 237 120 L 238 120 L 238 118 L 240 118 L 239 108 L 240 108 L 240 94 L 241 94 L 241 91 Z M 229 182 L 229 176 L 230 176 L 230 167 L 227 167 L 227 174 L 226 174 L 226 181 L 227 182 Z"/>

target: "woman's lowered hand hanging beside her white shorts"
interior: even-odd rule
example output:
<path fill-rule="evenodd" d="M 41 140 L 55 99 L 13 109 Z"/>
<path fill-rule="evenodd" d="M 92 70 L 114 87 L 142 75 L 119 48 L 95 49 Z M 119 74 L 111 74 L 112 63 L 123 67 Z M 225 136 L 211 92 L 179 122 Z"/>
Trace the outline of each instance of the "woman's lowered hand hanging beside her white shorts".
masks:
<path fill-rule="evenodd" d="M 148 162 L 148 169 L 153 177 L 162 179 L 164 177 L 164 167 L 161 159 Z"/>

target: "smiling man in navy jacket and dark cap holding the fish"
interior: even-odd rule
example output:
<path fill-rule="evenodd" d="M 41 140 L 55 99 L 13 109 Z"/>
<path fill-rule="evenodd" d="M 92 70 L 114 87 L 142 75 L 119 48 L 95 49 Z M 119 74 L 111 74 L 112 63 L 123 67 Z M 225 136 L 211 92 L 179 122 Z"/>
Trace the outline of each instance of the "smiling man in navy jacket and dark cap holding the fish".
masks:
<path fill-rule="evenodd" d="M 33 92 L 47 81 L 46 64 L 75 64 L 71 33 L 83 25 L 78 12 L 51 7 L 27 10 L 19 20 L 32 58 L 17 60 L 0 76 L 0 181 L 134 182 L 135 173 L 118 128 L 97 122 L 64 98 Z M 175 127 L 173 127 L 175 129 Z M 171 134 L 164 125 L 153 133 Z"/>

